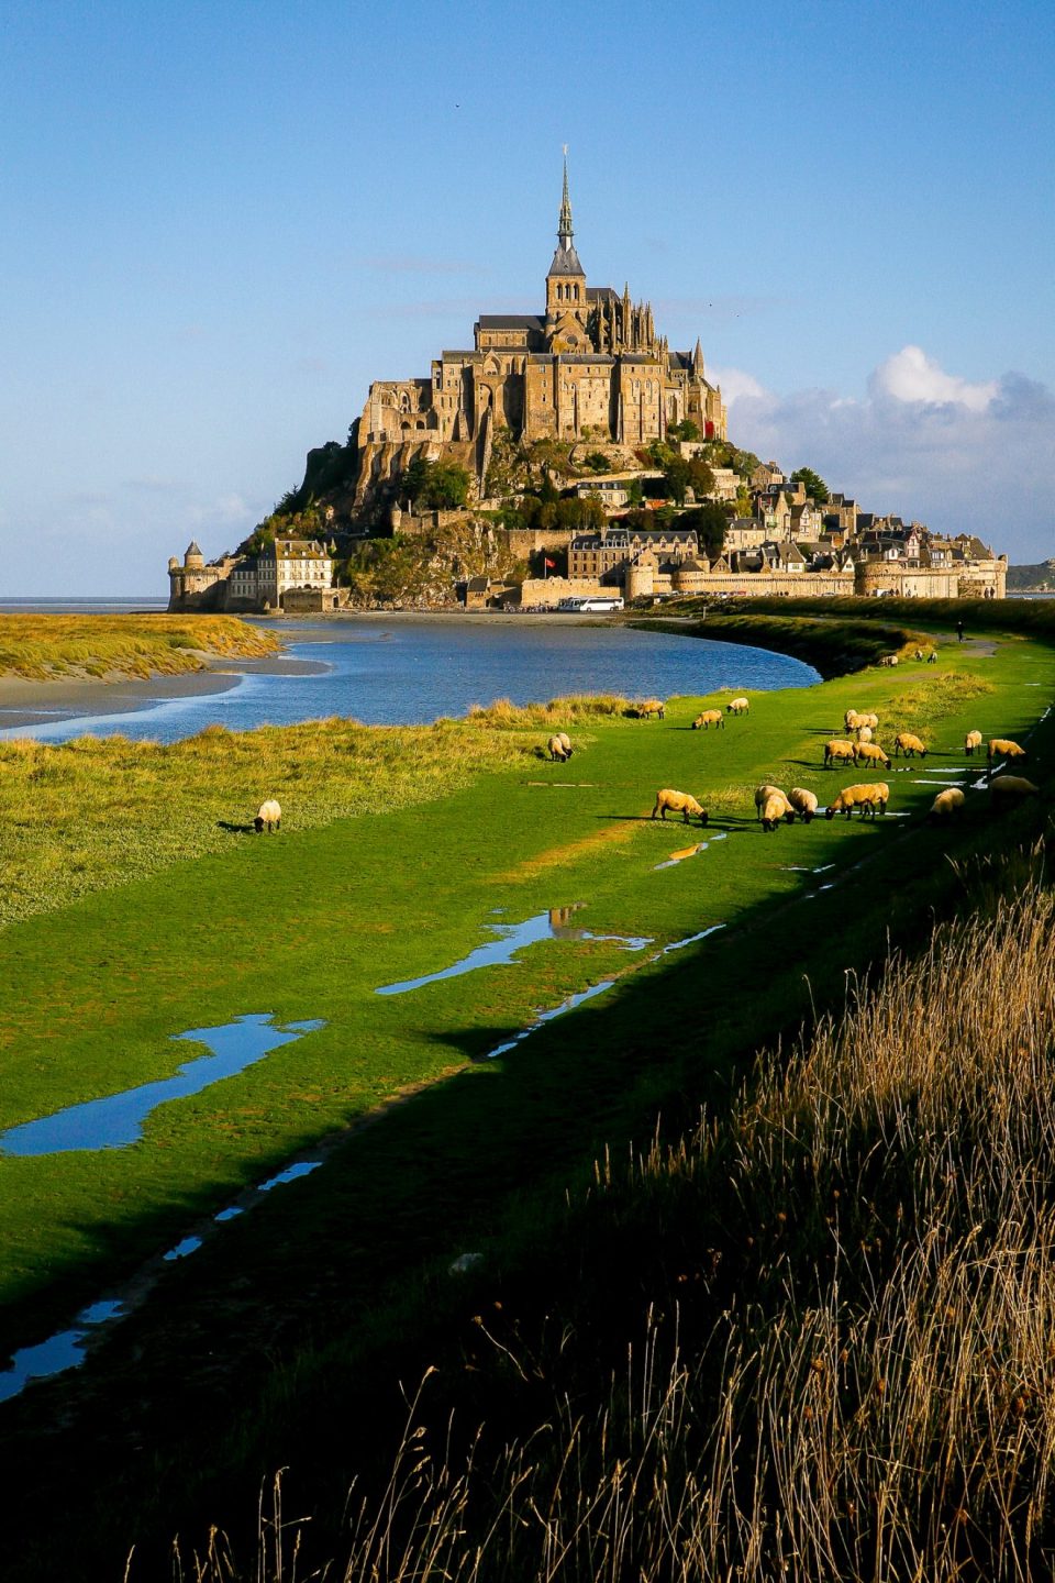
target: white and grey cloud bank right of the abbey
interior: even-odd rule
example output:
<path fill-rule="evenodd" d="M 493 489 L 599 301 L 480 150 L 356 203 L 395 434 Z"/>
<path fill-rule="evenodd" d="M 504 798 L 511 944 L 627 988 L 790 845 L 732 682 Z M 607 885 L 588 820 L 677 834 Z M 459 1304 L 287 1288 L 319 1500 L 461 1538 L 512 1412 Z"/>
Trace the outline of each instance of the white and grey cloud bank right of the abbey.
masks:
<path fill-rule="evenodd" d="M 864 399 L 830 389 L 778 396 L 728 370 L 729 435 L 785 467 L 815 467 L 862 510 L 977 533 L 1012 560 L 1055 554 L 1050 457 L 1055 399 L 1022 374 L 979 383 L 919 347 L 887 358 Z"/>

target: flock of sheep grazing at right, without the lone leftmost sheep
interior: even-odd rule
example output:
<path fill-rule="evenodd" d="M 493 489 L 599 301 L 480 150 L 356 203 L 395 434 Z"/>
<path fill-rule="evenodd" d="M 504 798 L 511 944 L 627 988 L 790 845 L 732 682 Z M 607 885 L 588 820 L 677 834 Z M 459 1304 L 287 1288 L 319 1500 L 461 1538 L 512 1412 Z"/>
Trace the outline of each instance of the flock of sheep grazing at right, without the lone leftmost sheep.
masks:
<path fill-rule="evenodd" d="M 917 660 L 927 659 L 933 662 L 936 659 L 935 652 L 924 655 L 922 651 L 916 655 Z M 886 662 L 897 663 L 897 655 L 886 657 Z M 710 731 L 712 727 L 717 731 L 724 730 L 726 716 L 740 716 L 750 712 L 748 698 L 732 698 L 724 709 L 704 709 L 693 720 L 693 731 Z M 644 703 L 637 704 L 634 709 L 637 719 L 663 719 L 664 706 L 660 698 L 647 698 Z M 843 725 L 846 728 L 845 738 L 832 738 L 824 744 L 824 768 L 832 769 L 837 765 L 872 765 L 891 769 L 891 755 L 873 739 L 875 731 L 879 728 L 879 717 L 876 714 L 862 714 L 857 709 L 848 709 L 843 716 Z M 982 733 L 968 731 L 963 739 L 963 752 L 971 758 L 982 747 Z M 549 744 L 550 760 L 566 760 L 571 758 L 571 741 L 565 731 L 557 736 L 550 736 Z M 894 758 L 925 758 L 927 744 L 922 738 L 916 736 L 913 731 L 898 731 L 894 738 Z M 996 760 L 1023 760 L 1025 750 L 1004 736 L 993 736 L 989 739 L 987 746 L 987 763 L 990 774 L 990 795 L 993 804 L 1006 806 L 1022 798 L 1039 796 L 1039 787 L 1033 785 L 1022 776 L 1000 776 L 996 780 L 992 779 L 993 763 Z M 886 780 L 868 780 L 859 782 L 856 785 L 843 787 L 841 792 L 827 804 L 824 809 L 826 818 L 835 818 L 837 814 L 843 814 L 851 818 L 853 810 L 857 809 L 860 818 L 875 818 L 878 814 L 886 814 L 886 806 L 891 801 L 891 788 Z M 938 792 L 930 810 L 928 820 L 933 823 L 955 818 L 965 804 L 963 792 L 959 787 L 947 787 Z M 762 823 L 762 831 L 769 833 L 780 826 L 781 822 L 794 823 L 799 817 L 805 825 L 816 818 L 819 812 L 819 803 L 815 792 L 808 792 L 805 787 L 792 787 L 791 792 L 783 792 L 775 785 L 761 785 L 754 792 L 754 814 Z M 707 825 L 707 809 L 690 793 L 677 792 L 674 787 L 661 787 L 656 792 L 656 801 L 652 809 L 652 818 L 666 820 L 667 814 L 680 814 L 683 823 L 688 825 L 690 820 L 699 820 L 701 826 Z"/>

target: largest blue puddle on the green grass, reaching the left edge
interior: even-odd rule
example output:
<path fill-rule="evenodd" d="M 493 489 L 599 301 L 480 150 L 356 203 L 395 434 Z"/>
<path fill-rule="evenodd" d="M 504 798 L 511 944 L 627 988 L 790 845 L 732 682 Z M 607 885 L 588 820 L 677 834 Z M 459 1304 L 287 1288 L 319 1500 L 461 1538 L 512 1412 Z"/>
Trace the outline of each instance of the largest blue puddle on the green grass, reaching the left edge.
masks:
<path fill-rule="evenodd" d="M 272 1024 L 272 1013 L 253 1012 L 221 1027 L 191 1027 L 185 1034 L 174 1034 L 176 1040 L 207 1045 L 212 1054 L 185 1062 L 171 1078 L 142 1083 L 84 1105 L 70 1105 L 52 1116 L 11 1127 L 0 1137 L 0 1151 L 36 1156 L 63 1154 L 70 1149 L 125 1149 L 139 1141 L 142 1122 L 158 1105 L 201 1094 L 214 1083 L 251 1067 L 280 1045 L 323 1026 L 323 1021 L 313 1019 L 277 1027 Z"/>

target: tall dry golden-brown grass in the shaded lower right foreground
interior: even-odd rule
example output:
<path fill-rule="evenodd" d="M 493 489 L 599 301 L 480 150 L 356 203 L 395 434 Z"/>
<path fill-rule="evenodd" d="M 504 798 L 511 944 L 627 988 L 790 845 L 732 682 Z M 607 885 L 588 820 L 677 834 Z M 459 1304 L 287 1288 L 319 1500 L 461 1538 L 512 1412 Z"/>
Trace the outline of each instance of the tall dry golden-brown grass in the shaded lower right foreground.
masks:
<path fill-rule="evenodd" d="M 1031 880 L 935 929 L 766 1056 L 726 1119 L 603 1162 L 565 1227 L 579 1277 L 620 1238 L 669 1273 L 623 1365 L 598 1388 L 603 1328 L 495 1334 L 495 1380 L 536 1401 L 501 1450 L 433 1442 L 427 1380 L 388 1488 L 350 1501 L 312 1575 L 1049 1577 L 1053 924 Z M 180 1575 L 301 1577 L 305 1531 L 272 1494 L 245 1567 L 214 1531 Z"/>

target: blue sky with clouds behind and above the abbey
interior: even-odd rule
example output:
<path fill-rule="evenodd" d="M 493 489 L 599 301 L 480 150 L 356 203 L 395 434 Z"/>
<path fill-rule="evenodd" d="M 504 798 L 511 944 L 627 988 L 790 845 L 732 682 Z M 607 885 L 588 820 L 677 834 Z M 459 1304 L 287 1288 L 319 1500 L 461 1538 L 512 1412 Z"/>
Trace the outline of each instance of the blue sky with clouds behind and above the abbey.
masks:
<path fill-rule="evenodd" d="M 593 285 L 731 438 L 1055 556 L 1050 0 L 0 0 L 0 597 L 163 595 L 370 380 Z"/>

